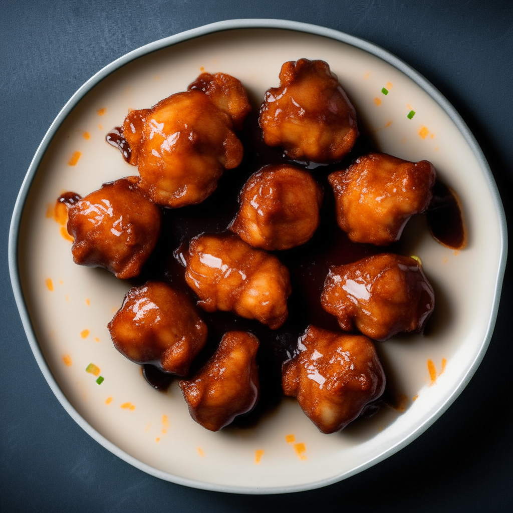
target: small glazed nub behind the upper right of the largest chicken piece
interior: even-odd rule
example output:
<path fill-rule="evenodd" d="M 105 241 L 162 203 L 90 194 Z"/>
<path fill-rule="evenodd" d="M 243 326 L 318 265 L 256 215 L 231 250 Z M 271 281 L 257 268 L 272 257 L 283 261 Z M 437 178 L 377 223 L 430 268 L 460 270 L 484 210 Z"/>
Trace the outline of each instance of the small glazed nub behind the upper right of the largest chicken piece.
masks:
<path fill-rule="evenodd" d="M 240 80 L 226 73 L 202 73 L 187 87 L 188 91 L 196 89 L 206 93 L 214 105 L 231 117 L 233 126 L 241 130 L 251 105 Z"/>

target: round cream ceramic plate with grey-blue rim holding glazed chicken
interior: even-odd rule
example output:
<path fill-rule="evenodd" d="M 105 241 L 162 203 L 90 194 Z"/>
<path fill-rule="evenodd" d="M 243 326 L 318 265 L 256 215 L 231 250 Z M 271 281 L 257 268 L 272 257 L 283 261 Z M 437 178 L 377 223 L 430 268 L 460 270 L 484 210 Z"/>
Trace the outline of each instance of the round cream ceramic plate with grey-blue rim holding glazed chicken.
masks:
<path fill-rule="evenodd" d="M 167 394 L 154 391 L 139 366 L 114 349 L 106 324 L 128 285 L 106 271 L 74 265 L 71 244 L 46 216 L 47 208 L 64 190 L 85 195 L 103 182 L 134 174 L 104 140 L 129 108 L 149 107 L 184 90 L 203 68 L 230 73 L 254 97 L 263 98 L 268 87 L 278 85 L 281 65 L 300 57 L 329 63 L 382 151 L 431 161 L 441 179 L 458 191 L 468 247 L 458 253 L 440 246 L 422 217 L 410 222 L 403 235 L 408 241 L 404 251 L 420 255 L 437 293 L 430 336 L 380 345 L 405 394 L 404 411 L 385 408 L 327 436 L 297 402 L 284 400 L 255 428 L 212 433 L 189 418 L 176 384 Z M 409 119 L 411 110 L 415 115 Z M 80 158 L 69 165 L 75 152 Z M 172 36 L 92 77 L 37 150 L 19 193 L 10 238 L 12 283 L 27 337 L 73 419 L 104 447 L 154 476 L 242 493 L 333 483 L 418 437 L 455 400 L 483 358 L 505 255 L 496 185 L 468 128 L 440 93 L 376 46 L 321 27 L 272 20 L 222 22 Z M 102 384 L 86 372 L 90 363 L 101 369 Z"/>

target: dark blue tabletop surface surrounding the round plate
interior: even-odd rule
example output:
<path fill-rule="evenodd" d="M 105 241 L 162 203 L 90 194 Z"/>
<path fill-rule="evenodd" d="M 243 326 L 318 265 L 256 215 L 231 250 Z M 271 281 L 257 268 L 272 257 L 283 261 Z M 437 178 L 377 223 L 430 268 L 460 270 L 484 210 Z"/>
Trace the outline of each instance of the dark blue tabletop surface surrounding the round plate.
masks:
<path fill-rule="evenodd" d="M 384 47 L 420 71 L 477 137 L 511 223 L 511 6 L 509 1 L 482 0 L 0 2 L 0 509 L 510 511 L 510 270 L 483 363 L 460 398 L 424 435 L 385 462 L 330 487 L 248 497 L 147 476 L 111 455 L 71 420 L 43 379 L 25 338 L 9 281 L 7 237 L 32 156 L 78 87 L 141 45 L 244 17 L 286 18 L 338 29 Z"/>

